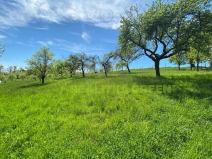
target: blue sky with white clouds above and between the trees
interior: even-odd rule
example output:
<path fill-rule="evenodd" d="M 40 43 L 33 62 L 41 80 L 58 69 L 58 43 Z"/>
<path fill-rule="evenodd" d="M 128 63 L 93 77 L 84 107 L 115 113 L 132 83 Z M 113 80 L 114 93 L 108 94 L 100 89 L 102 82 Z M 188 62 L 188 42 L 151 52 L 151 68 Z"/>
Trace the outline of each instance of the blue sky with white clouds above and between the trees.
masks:
<path fill-rule="evenodd" d="M 113 51 L 120 15 L 137 3 L 146 10 L 152 0 L 0 0 L 0 41 L 6 47 L 0 64 L 25 67 L 26 59 L 43 46 L 60 59 L 77 52 L 101 56 Z M 145 57 L 131 65 L 152 66 Z"/>

